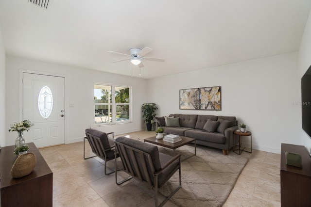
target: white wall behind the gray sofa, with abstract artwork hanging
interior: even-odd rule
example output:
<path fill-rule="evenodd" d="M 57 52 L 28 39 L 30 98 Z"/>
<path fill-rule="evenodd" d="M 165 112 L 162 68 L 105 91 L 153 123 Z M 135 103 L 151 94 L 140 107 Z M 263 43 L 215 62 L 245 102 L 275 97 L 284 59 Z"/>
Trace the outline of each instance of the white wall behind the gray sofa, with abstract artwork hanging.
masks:
<path fill-rule="evenodd" d="M 158 105 L 158 116 L 236 116 L 252 132 L 253 148 L 280 153 L 281 143 L 303 144 L 296 140 L 300 130 L 300 107 L 294 105 L 300 101 L 297 62 L 294 52 L 151 79 L 148 100 Z M 179 110 L 180 89 L 209 86 L 222 87 L 222 111 Z"/>

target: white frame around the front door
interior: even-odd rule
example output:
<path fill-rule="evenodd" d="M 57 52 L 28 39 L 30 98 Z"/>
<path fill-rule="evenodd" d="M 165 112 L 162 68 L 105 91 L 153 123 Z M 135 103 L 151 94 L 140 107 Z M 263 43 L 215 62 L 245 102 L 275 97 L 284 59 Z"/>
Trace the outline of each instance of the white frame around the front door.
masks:
<path fill-rule="evenodd" d="M 66 97 L 66 75 L 64 74 L 56 74 L 56 73 L 48 73 L 48 72 L 42 72 L 42 71 L 35 71 L 35 70 L 27 70 L 27 69 L 19 69 L 19 120 L 23 120 L 23 74 L 24 73 L 31 73 L 31 74 L 36 74 L 36 75 L 44 75 L 44 76 L 56 76 L 56 77 L 61 77 L 64 78 L 64 100 L 65 100 L 65 111 L 68 111 L 67 107 L 67 97 Z M 65 113 L 66 114 L 66 113 Z M 65 144 L 67 143 L 67 119 L 65 118 Z"/>

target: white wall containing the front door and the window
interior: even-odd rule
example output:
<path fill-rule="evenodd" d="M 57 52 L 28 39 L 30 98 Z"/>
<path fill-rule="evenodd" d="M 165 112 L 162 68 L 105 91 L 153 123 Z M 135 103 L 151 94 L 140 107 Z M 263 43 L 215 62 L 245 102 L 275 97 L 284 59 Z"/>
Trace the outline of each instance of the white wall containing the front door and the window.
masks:
<path fill-rule="evenodd" d="M 66 143 L 82 141 L 85 129 L 94 126 L 94 83 L 129 85 L 132 86 L 133 94 L 132 123 L 96 127 L 96 129 L 106 132 L 113 131 L 115 134 L 145 129 L 140 106 L 147 101 L 146 80 L 12 56 L 6 57 L 6 111 L 10 111 L 6 117 L 5 128 L 7 129 L 10 124 L 22 119 L 19 110 L 19 104 L 22 103 L 19 92 L 20 70 L 60 74 L 65 77 Z M 69 104 L 74 104 L 74 108 L 69 108 Z M 12 145 L 17 134 L 7 131 L 6 137 L 6 145 Z"/>

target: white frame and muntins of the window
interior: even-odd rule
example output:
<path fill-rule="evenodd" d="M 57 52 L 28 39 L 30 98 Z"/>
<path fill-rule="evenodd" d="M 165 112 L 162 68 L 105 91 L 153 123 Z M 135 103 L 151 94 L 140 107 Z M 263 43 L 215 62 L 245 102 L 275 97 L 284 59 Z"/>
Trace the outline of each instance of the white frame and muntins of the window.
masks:
<path fill-rule="evenodd" d="M 111 84 L 111 83 L 94 83 L 93 84 L 93 90 L 95 89 L 95 85 L 102 85 L 102 86 L 109 86 L 111 87 L 111 102 L 105 103 L 105 104 L 94 104 L 94 109 L 96 105 L 111 105 L 111 122 L 102 122 L 102 123 L 95 123 L 95 116 L 94 116 L 94 126 L 104 126 L 104 125 L 115 125 L 115 124 L 124 124 L 124 123 L 131 123 L 132 121 L 132 86 L 129 85 L 121 85 L 121 84 Z M 129 103 L 116 103 L 116 88 L 129 88 Z M 124 121 L 117 121 L 117 105 L 129 105 L 129 120 Z M 108 116 L 110 115 L 110 111 L 108 111 Z"/>

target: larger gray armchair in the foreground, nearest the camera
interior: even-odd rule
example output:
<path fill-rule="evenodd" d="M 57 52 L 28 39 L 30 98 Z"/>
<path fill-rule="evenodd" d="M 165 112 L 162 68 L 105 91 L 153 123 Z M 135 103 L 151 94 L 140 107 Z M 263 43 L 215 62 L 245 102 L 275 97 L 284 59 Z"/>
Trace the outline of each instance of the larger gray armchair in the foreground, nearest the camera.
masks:
<path fill-rule="evenodd" d="M 130 177 L 116 183 L 121 183 L 134 177 L 138 181 L 146 184 L 155 191 L 155 207 L 157 207 L 157 192 L 174 174 L 179 170 L 179 186 L 159 205 L 163 206 L 172 195 L 181 188 L 180 155 L 175 157 L 158 152 L 157 146 L 149 143 L 142 143 L 126 137 L 116 139 L 116 153 L 120 155 L 123 171 Z M 116 162 L 116 161 L 115 161 Z M 117 166 L 117 162 L 115 163 Z M 117 167 L 116 167 L 117 172 Z"/>

